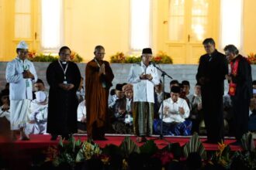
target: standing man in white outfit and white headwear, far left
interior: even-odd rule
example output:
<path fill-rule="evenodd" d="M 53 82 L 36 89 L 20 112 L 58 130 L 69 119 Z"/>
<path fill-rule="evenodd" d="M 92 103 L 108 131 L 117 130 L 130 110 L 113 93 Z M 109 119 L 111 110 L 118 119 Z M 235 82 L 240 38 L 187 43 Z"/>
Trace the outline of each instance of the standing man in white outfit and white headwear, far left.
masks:
<path fill-rule="evenodd" d="M 10 83 L 10 123 L 11 130 L 19 130 L 20 140 L 29 140 L 24 133 L 24 127 L 28 121 L 29 104 L 33 99 L 32 83 L 36 82 L 36 70 L 28 56 L 26 42 L 19 42 L 16 52 L 18 56 L 6 66 L 6 80 Z M 12 133 L 13 139 L 16 139 Z"/>

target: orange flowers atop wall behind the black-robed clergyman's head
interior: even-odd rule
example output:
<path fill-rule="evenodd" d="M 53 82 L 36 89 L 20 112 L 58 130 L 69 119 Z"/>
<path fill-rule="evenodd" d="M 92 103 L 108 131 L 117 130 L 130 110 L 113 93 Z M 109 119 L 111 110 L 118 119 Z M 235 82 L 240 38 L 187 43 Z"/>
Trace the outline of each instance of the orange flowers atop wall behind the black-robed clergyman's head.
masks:
<path fill-rule="evenodd" d="M 53 62 L 56 61 L 59 57 L 54 56 L 51 53 L 44 54 L 44 53 L 36 53 L 35 50 L 29 51 L 28 53 L 28 59 L 32 62 Z M 75 63 L 81 63 L 83 61 L 83 58 L 79 56 L 78 53 L 75 53 L 74 51 L 71 51 L 71 61 Z"/>

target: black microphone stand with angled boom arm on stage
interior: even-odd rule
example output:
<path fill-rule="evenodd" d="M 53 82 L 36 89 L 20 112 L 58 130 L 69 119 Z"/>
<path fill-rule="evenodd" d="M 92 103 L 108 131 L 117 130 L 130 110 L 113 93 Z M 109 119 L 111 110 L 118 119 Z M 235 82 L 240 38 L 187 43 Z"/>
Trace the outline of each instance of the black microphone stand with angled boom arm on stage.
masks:
<path fill-rule="evenodd" d="M 159 139 L 163 139 L 164 136 L 163 136 L 163 114 L 164 114 L 164 76 L 168 76 L 170 79 L 172 79 L 171 76 L 168 75 L 168 73 L 166 73 L 164 70 L 161 70 L 160 66 L 156 66 L 155 63 L 152 63 L 153 66 L 155 68 L 157 68 L 157 70 L 159 70 L 161 72 L 161 76 L 163 77 L 163 84 L 162 84 L 162 101 L 161 101 L 161 126 L 160 126 L 160 136 L 159 136 Z M 168 141 L 169 142 L 169 141 Z"/>

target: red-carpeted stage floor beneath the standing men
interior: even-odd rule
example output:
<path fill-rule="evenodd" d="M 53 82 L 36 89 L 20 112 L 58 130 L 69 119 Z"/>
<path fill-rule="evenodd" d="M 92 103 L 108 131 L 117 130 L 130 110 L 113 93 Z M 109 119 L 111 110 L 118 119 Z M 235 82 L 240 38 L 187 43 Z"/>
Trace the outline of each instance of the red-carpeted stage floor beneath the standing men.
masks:
<path fill-rule="evenodd" d="M 113 144 L 113 145 L 120 145 L 123 141 L 123 139 L 126 136 L 130 136 L 131 140 L 134 141 L 137 145 L 143 145 L 144 143 L 138 143 L 136 141 L 136 137 L 131 134 L 106 134 L 107 141 L 95 141 L 96 144 L 98 144 L 101 148 L 104 148 L 106 145 Z M 81 141 L 87 140 L 86 134 L 74 134 L 74 138 L 78 139 L 80 138 Z M 189 141 L 191 136 L 164 136 L 163 139 L 160 139 L 158 135 L 153 135 L 148 140 L 154 140 L 155 144 L 158 148 L 164 148 L 169 143 L 179 143 L 181 146 L 185 145 L 186 142 Z M 205 136 L 200 136 L 200 141 L 206 141 Z M 227 145 L 230 145 L 230 143 L 234 142 L 234 138 L 225 138 L 224 143 Z M 2 145 L 13 145 L 17 147 L 23 147 L 23 148 L 41 148 L 41 147 L 47 147 L 49 145 L 57 145 L 57 141 L 50 141 L 50 134 L 32 134 L 30 135 L 29 141 L 6 141 L 4 138 L 0 137 L 0 146 Z M 208 144 L 203 143 L 204 147 L 206 148 L 206 151 L 214 151 L 218 149 L 218 145 L 216 144 Z M 240 146 L 237 145 L 230 145 L 230 148 L 232 151 L 241 150 Z"/>

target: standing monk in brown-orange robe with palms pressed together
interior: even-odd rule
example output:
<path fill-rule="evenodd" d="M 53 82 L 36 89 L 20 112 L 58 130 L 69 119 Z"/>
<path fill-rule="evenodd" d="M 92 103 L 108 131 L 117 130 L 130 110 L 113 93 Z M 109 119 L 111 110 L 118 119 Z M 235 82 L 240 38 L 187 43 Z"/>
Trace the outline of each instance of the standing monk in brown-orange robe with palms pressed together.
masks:
<path fill-rule="evenodd" d="M 96 46 L 94 54 L 95 58 L 87 63 L 85 69 L 87 134 L 93 140 L 106 140 L 109 88 L 114 75 L 109 62 L 103 60 L 104 47 Z"/>

